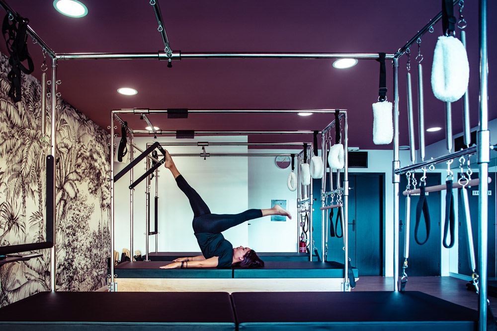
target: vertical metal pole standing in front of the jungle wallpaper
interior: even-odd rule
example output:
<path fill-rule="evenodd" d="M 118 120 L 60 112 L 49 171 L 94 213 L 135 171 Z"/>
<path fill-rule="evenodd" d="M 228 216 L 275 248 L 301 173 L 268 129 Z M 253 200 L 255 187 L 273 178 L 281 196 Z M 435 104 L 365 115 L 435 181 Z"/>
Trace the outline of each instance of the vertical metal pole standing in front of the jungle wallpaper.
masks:
<path fill-rule="evenodd" d="M 57 123 L 57 118 L 56 118 L 56 107 L 57 107 L 57 59 L 52 59 L 52 94 L 51 94 L 51 97 L 52 97 L 52 108 L 51 108 L 51 111 L 52 111 L 52 121 L 50 123 L 51 125 L 51 148 L 50 148 L 50 154 L 52 154 L 54 156 L 54 160 L 57 160 L 57 140 L 56 140 L 56 136 L 57 136 L 57 132 L 56 132 L 56 123 Z M 52 246 L 52 248 L 50 249 L 50 290 L 52 292 L 55 292 L 57 290 L 56 288 L 56 278 L 57 278 L 57 268 L 56 268 L 56 255 L 57 255 L 57 252 L 56 252 L 56 248 L 57 248 L 57 213 L 56 213 L 56 203 L 55 203 L 55 197 L 57 195 L 57 186 L 56 186 L 56 171 L 55 169 L 57 169 L 57 162 L 55 162 L 55 165 L 54 165 L 54 173 L 53 173 L 53 178 L 54 178 L 54 182 L 53 182 L 53 185 L 54 185 L 54 196 L 53 196 L 53 199 L 52 201 L 54 202 L 53 205 L 51 206 L 47 206 L 47 208 L 53 208 L 53 215 L 54 215 L 54 225 L 53 225 L 53 229 L 54 229 L 54 239 L 53 239 L 53 243 L 54 243 L 54 246 Z"/>

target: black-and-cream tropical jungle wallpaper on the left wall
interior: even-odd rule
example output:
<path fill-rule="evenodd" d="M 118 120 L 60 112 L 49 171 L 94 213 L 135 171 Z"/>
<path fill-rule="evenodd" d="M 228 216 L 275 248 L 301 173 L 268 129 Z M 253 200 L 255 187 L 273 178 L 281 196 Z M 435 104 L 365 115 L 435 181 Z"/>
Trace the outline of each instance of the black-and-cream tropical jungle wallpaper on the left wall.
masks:
<path fill-rule="evenodd" d="M 0 247 L 43 242 L 51 111 L 44 137 L 41 82 L 22 74 L 22 100 L 13 103 L 2 54 L 0 62 Z M 63 97 L 57 98 L 55 124 L 56 286 L 91 291 L 106 284 L 110 252 L 109 138 Z M 50 250 L 40 252 L 39 258 L 0 265 L 0 307 L 50 290 Z"/>

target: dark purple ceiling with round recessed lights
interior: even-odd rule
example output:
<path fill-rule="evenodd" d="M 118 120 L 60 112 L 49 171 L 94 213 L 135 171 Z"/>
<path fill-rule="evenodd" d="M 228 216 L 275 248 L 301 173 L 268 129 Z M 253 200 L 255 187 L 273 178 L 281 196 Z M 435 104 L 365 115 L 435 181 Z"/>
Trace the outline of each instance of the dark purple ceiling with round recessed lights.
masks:
<path fill-rule="evenodd" d="M 30 27 L 56 53 L 152 53 L 163 50 L 153 7 L 148 0 L 83 0 L 88 15 L 70 18 L 58 13 L 52 0 L 10 0 L 30 20 Z M 395 53 L 437 12 L 440 2 L 420 1 L 296 1 L 296 0 L 160 0 L 172 50 L 182 52 L 310 52 Z M 497 1 L 489 1 L 489 21 Z M 457 16 L 457 6 L 456 6 Z M 471 125 L 478 125 L 479 47 L 478 1 L 466 1 L 470 62 Z M 422 38 L 426 127 L 444 127 L 444 105 L 433 97 L 431 62 L 441 23 Z M 496 54 L 495 29 L 489 27 L 489 55 Z M 493 42 L 494 41 L 494 42 Z M 2 43 L 0 51 L 6 54 Z M 41 48 L 29 45 L 40 78 Z M 417 53 L 417 46 L 412 47 Z M 407 145 L 406 61 L 400 60 L 401 144 Z M 331 60 L 183 59 L 59 61 L 62 97 L 107 128 L 111 109 L 348 109 L 349 146 L 392 148 L 372 142 L 371 104 L 378 96 L 379 65 L 373 60 L 338 70 Z M 414 63 L 414 57 L 413 57 Z M 492 63 L 492 61 L 491 61 Z M 392 69 L 387 62 L 388 99 L 393 99 Z M 413 66 L 416 85 L 416 66 Z M 136 96 L 116 90 L 128 86 Z M 496 90 L 493 76 L 489 91 Z M 414 96 L 417 95 L 414 89 Z M 417 103 L 414 101 L 414 105 Z M 462 131 L 461 102 L 453 104 L 454 132 Z M 490 118 L 497 110 L 490 104 Z M 150 115 L 162 130 L 321 130 L 332 115 L 191 114 L 188 119 Z M 144 130 L 138 116 L 126 117 L 132 129 Z M 416 121 L 417 122 L 417 121 Z M 427 144 L 444 132 L 426 133 Z M 312 141 L 311 136 L 252 135 L 250 142 Z"/>

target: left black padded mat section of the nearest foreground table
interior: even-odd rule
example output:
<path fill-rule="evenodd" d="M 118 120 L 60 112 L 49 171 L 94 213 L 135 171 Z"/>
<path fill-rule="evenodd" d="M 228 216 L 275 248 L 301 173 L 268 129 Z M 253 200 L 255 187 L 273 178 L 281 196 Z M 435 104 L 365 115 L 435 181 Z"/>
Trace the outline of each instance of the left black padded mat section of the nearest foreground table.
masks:
<path fill-rule="evenodd" d="M 41 292 L 0 308 L 0 321 L 235 324 L 235 316 L 225 292 Z"/>

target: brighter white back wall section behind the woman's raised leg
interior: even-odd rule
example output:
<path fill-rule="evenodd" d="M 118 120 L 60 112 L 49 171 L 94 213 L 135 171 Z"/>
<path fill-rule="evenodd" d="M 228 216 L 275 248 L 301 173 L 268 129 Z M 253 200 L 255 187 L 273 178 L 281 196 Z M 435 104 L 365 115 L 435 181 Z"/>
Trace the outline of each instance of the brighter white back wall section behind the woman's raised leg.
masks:
<path fill-rule="evenodd" d="M 175 139 L 159 137 L 159 142 L 189 141 L 229 141 L 247 142 L 246 136 L 201 136 L 194 139 Z M 118 141 L 118 140 L 117 140 Z M 147 142 L 153 139 L 136 137 L 136 145 L 145 149 Z M 198 153 L 198 146 L 169 146 L 171 153 Z M 208 153 L 247 153 L 247 146 L 207 146 Z M 140 154 L 136 151 L 135 157 Z M 248 209 L 248 157 L 222 156 L 207 157 L 173 157 L 179 172 L 188 184 L 204 199 L 213 213 L 239 213 Z M 117 174 L 125 164 L 114 163 Z M 134 167 L 134 178 L 138 179 L 144 172 L 145 161 Z M 178 189 L 170 172 L 161 167 L 159 173 L 159 252 L 199 252 L 191 222 L 193 212 L 188 199 Z M 130 246 L 130 184 L 129 174 L 122 177 L 115 185 L 115 247 L 117 251 Z M 134 191 L 134 250 L 145 254 L 145 180 Z M 154 203 L 155 179 L 151 182 L 151 202 Z M 153 227 L 154 207 L 151 208 L 151 227 Z M 224 236 L 233 245 L 248 245 L 248 225 L 240 224 L 225 231 Z M 149 252 L 155 252 L 155 239 L 150 236 Z"/>

